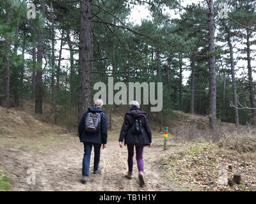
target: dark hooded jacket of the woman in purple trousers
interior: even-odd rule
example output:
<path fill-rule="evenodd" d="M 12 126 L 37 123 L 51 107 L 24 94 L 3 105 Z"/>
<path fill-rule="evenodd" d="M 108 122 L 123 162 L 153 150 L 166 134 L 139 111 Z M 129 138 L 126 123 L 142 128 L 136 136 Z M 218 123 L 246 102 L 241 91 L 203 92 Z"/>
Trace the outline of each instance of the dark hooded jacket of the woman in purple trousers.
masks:
<path fill-rule="evenodd" d="M 131 133 L 131 128 L 135 122 L 136 117 L 139 117 L 143 124 L 143 131 L 140 135 L 135 135 Z M 147 114 L 141 111 L 139 108 L 131 108 L 131 110 L 129 110 L 129 112 L 125 114 L 124 124 L 121 129 L 119 142 L 123 142 L 124 139 L 125 145 L 149 145 L 152 142 L 152 134 L 149 127 Z"/>

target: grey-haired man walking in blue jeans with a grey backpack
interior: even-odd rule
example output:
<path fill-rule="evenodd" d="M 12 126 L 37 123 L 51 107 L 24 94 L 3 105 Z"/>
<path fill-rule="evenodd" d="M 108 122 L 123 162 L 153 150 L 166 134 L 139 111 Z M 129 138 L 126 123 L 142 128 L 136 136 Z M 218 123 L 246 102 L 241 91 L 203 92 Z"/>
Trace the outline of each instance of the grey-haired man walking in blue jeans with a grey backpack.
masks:
<path fill-rule="evenodd" d="M 99 168 L 100 147 L 102 145 L 102 149 L 106 148 L 108 138 L 108 119 L 102 106 L 102 99 L 95 100 L 94 106 L 88 108 L 78 126 L 80 142 L 84 143 L 83 178 L 81 179 L 83 184 L 87 182 L 89 176 L 92 146 L 94 148 L 93 173 L 97 174 L 101 171 Z"/>

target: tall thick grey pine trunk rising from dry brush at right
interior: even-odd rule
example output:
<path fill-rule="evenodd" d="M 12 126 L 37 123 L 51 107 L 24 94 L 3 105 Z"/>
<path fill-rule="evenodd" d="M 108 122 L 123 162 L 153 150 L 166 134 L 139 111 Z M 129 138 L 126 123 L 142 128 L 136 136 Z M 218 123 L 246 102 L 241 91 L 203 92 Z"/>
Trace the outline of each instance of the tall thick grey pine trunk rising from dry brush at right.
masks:
<path fill-rule="evenodd" d="M 215 43 L 214 43 L 214 7 L 213 0 L 209 0 L 209 128 L 216 128 L 216 64 L 215 64 Z"/>

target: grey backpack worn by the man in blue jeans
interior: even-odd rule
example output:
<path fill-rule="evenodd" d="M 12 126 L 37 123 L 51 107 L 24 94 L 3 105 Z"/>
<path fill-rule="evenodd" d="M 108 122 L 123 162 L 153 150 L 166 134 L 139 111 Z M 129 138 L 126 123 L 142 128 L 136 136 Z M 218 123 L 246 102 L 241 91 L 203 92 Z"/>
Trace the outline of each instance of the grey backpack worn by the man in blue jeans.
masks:
<path fill-rule="evenodd" d="M 100 113 L 89 112 L 86 115 L 84 129 L 90 133 L 97 133 L 100 128 Z"/>

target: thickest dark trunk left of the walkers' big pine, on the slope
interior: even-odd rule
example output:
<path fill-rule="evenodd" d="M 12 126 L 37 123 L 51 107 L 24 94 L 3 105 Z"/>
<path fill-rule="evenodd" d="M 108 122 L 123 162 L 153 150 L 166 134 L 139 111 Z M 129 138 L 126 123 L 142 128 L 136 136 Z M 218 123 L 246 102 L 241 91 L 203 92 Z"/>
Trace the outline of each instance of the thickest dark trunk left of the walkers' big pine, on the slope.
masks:
<path fill-rule="evenodd" d="M 45 0 L 41 0 L 41 13 L 45 14 Z M 41 27 L 38 32 L 38 48 L 37 48 L 37 63 L 38 69 L 36 71 L 36 90 L 35 90 L 35 113 L 42 114 L 42 65 L 44 53 L 44 27 Z"/>

